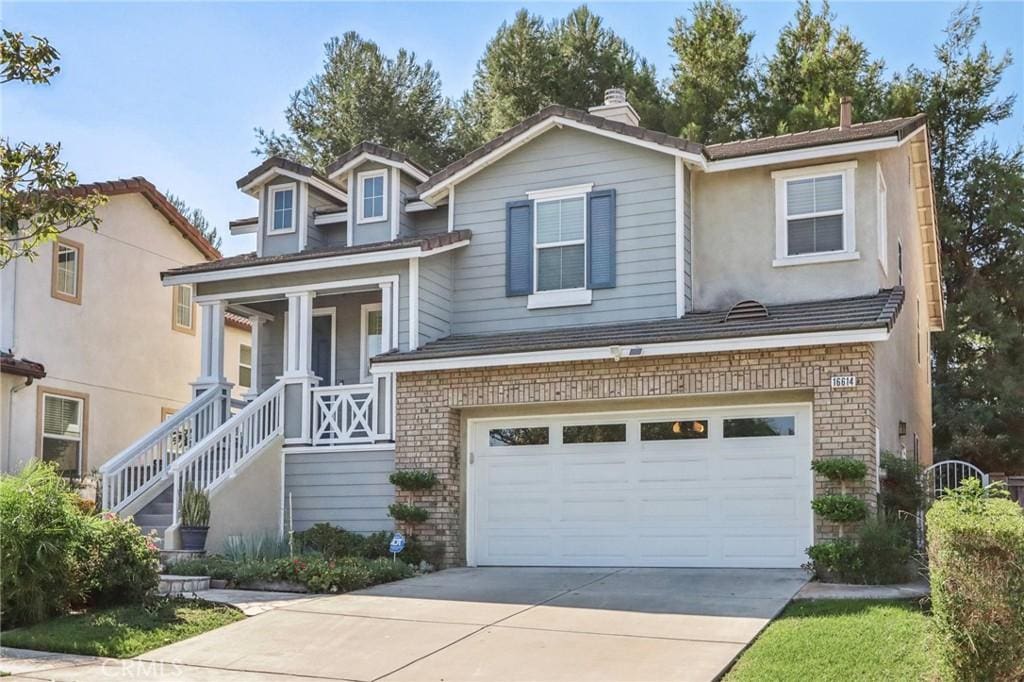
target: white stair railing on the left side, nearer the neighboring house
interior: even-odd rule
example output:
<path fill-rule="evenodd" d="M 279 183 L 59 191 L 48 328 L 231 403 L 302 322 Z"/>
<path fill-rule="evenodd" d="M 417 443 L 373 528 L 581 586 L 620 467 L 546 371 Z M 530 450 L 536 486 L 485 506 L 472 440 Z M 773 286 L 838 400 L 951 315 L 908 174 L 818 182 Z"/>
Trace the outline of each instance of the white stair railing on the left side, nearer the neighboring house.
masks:
<path fill-rule="evenodd" d="M 123 453 L 99 467 L 103 508 L 120 512 L 164 480 L 168 467 L 225 419 L 222 391 L 204 391 Z"/>

